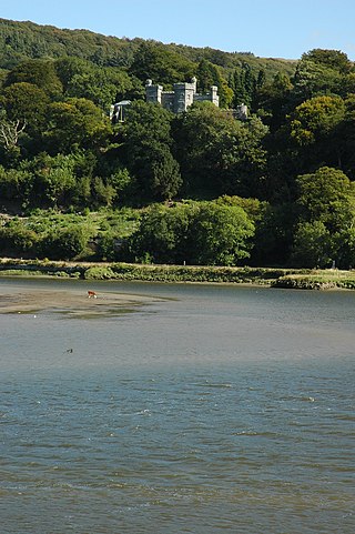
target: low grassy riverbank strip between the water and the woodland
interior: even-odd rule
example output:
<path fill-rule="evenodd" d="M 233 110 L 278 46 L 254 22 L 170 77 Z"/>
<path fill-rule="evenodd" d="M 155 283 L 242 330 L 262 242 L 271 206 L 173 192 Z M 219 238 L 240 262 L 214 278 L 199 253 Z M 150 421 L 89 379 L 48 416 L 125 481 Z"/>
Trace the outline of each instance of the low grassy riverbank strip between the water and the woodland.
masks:
<path fill-rule="evenodd" d="M 252 283 L 286 289 L 355 289 L 355 271 L 248 266 L 153 265 L 2 258 L 2 276 L 54 276 L 146 282 Z"/>

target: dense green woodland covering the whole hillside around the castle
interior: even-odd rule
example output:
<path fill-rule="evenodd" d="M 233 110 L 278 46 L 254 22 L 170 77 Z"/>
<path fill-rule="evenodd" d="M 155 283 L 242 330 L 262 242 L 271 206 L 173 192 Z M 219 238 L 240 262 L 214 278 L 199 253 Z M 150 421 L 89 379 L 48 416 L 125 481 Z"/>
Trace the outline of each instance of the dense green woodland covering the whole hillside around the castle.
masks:
<path fill-rule="evenodd" d="M 145 102 L 148 78 L 193 75 L 220 108 Z M 1 255 L 347 269 L 354 183 L 342 51 L 263 59 L 0 19 Z"/>

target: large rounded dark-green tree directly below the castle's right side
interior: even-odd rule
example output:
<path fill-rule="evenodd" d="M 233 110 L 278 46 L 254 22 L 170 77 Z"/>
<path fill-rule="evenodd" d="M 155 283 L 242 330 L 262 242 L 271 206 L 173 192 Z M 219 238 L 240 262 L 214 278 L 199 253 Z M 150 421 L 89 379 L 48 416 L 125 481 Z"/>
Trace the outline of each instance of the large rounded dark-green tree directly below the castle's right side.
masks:
<path fill-rule="evenodd" d="M 176 158 L 190 191 L 255 195 L 264 173 L 263 139 L 257 118 L 235 120 L 213 104 L 195 104 L 176 118 Z"/>

